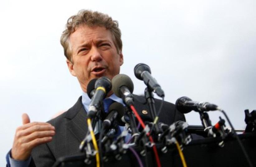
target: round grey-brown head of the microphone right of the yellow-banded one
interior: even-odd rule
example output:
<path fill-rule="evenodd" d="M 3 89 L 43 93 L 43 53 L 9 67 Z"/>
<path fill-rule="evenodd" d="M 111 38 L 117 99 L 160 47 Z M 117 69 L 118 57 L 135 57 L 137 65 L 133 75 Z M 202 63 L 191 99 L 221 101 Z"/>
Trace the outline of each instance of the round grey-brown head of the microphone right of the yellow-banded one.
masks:
<path fill-rule="evenodd" d="M 121 94 L 120 94 L 120 91 L 119 91 L 119 88 L 121 86 L 126 86 L 130 93 L 133 92 L 133 82 L 131 80 L 131 78 L 125 74 L 118 74 L 116 75 L 113 79 L 112 79 L 112 91 L 114 92 L 114 94 L 121 98 Z"/>

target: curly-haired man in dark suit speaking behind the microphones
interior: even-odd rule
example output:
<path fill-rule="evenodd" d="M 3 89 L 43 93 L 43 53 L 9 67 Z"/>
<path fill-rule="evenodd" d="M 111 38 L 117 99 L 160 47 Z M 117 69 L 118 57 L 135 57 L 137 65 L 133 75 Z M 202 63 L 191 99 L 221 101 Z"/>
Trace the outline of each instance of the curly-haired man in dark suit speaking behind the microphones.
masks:
<path fill-rule="evenodd" d="M 31 123 L 27 114 L 22 115 L 23 125 L 15 133 L 11 151 L 7 154 L 8 167 L 50 167 L 62 156 L 75 155 L 88 130 L 86 124 L 91 99 L 86 94 L 89 81 L 106 76 L 112 79 L 119 74 L 123 64 L 121 31 L 118 22 L 106 14 L 81 10 L 71 16 L 60 42 L 69 72 L 77 77 L 83 90 L 76 104 L 48 123 Z M 122 102 L 112 92 L 108 99 Z M 140 112 L 149 110 L 144 97 L 135 96 L 135 107 Z M 159 106 L 156 100 L 156 106 Z M 175 106 L 164 102 L 160 121 L 171 124 L 185 120 Z"/>

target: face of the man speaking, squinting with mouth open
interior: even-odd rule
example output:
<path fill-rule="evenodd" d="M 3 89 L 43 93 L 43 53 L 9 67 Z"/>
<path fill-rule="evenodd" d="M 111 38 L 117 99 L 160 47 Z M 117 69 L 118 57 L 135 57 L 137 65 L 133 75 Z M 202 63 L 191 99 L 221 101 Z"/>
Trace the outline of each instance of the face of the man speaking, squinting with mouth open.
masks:
<path fill-rule="evenodd" d="M 84 92 L 93 78 L 112 79 L 123 64 L 122 52 L 116 50 L 112 34 L 105 27 L 80 26 L 70 35 L 73 63 L 69 71 L 76 76 Z"/>

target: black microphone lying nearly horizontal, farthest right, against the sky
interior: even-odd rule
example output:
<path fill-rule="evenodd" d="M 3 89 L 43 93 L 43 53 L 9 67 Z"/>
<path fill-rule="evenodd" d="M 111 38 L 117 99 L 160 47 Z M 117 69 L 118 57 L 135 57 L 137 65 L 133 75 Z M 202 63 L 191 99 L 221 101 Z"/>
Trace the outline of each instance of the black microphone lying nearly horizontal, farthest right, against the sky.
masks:
<path fill-rule="evenodd" d="M 176 109 L 183 114 L 189 113 L 194 110 L 197 112 L 203 111 L 214 111 L 218 109 L 218 106 L 208 102 L 197 102 L 192 101 L 190 98 L 183 96 L 176 100 L 175 103 Z"/>

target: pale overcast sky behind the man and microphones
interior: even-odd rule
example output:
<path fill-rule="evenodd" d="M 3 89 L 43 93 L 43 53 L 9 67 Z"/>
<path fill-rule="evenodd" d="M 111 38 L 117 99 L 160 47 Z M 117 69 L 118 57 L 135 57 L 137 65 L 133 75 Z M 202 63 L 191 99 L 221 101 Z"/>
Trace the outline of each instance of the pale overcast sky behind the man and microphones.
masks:
<path fill-rule="evenodd" d="M 122 31 L 124 64 L 135 94 L 137 63 L 150 66 L 165 100 L 181 96 L 223 108 L 236 129 L 244 109 L 256 109 L 256 2 L 249 1 L 1 1 L 1 166 L 21 114 L 47 121 L 81 95 L 59 43 L 69 16 L 80 9 L 107 13 Z M 211 112 L 212 123 L 220 112 Z M 186 114 L 200 125 L 198 113 Z M 226 125 L 228 125 L 226 123 Z"/>

